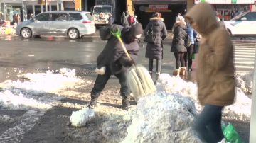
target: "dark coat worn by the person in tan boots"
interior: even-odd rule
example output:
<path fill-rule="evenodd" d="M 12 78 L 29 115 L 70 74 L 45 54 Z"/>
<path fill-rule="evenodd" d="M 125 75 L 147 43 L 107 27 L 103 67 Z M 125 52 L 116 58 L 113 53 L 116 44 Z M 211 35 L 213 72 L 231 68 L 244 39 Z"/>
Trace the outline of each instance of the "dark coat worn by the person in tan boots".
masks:
<path fill-rule="evenodd" d="M 185 38 L 186 24 L 180 21 L 174 23 L 174 38 L 171 43 L 171 52 L 187 52 Z"/>

